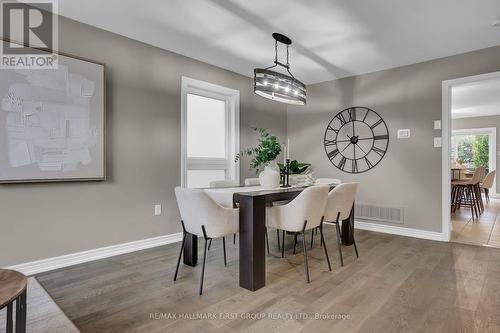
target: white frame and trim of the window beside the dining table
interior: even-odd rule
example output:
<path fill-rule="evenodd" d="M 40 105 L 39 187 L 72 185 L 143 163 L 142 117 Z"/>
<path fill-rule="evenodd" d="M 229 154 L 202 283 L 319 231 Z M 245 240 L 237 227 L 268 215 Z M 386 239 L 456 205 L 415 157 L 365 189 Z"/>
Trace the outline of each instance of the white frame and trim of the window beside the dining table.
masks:
<path fill-rule="evenodd" d="M 187 156 L 187 96 L 218 99 L 226 105 L 226 157 Z M 187 186 L 188 170 L 227 170 L 226 180 L 240 180 L 240 163 L 234 157 L 240 151 L 240 92 L 213 83 L 182 76 L 181 79 L 181 186 Z"/>

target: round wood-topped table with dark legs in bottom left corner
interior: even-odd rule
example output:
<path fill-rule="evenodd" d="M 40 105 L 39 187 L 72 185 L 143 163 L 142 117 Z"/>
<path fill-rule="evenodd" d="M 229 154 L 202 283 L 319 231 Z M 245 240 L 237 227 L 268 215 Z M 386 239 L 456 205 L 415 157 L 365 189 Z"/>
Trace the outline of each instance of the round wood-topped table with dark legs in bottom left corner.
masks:
<path fill-rule="evenodd" d="M 12 333 L 12 312 L 16 303 L 16 333 L 26 332 L 26 289 L 28 280 L 24 274 L 0 269 L 0 310 L 7 307 L 6 333 Z"/>

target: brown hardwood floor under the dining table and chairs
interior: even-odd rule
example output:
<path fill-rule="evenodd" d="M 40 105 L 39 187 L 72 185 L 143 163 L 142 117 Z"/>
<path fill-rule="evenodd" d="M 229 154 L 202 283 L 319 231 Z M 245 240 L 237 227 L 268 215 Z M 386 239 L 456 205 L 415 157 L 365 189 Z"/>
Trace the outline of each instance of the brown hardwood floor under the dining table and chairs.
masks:
<path fill-rule="evenodd" d="M 203 296 L 200 267 L 182 266 L 172 281 L 179 244 L 37 279 L 82 332 L 500 332 L 500 250 L 356 231 L 360 258 L 344 247 L 341 268 L 334 228 L 325 229 L 333 272 L 316 242 L 309 252 L 310 284 L 300 242 L 292 255 L 288 237 L 281 259 L 273 232 L 267 285 L 257 292 L 238 287 L 232 240 L 228 267 L 222 241 L 214 241 Z M 265 317 L 245 318 L 249 313 Z M 216 318 L 188 320 L 181 314 Z M 314 320 L 316 315 L 324 320 Z"/>

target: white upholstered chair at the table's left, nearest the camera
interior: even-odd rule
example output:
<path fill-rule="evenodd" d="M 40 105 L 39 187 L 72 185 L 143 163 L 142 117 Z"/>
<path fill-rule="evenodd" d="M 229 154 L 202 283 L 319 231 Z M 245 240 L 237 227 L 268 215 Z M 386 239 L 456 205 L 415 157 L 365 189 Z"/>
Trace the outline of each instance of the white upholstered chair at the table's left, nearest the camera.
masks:
<path fill-rule="evenodd" d="M 177 205 L 181 214 L 183 237 L 174 281 L 177 280 L 177 273 L 187 234 L 203 237 L 205 240 L 205 250 L 200 277 L 201 295 L 203 293 L 203 278 L 205 276 L 205 263 L 207 260 L 207 243 L 213 238 L 222 238 L 224 265 L 227 265 L 225 236 L 238 232 L 239 210 L 219 205 L 205 191 L 200 189 L 176 187 L 175 197 L 177 198 Z"/>

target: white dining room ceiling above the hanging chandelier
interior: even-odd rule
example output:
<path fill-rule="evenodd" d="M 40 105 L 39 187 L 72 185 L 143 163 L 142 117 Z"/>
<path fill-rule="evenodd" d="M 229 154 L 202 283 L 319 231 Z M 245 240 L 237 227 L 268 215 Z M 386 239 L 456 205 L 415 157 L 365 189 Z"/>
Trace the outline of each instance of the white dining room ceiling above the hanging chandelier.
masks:
<path fill-rule="evenodd" d="M 500 45 L 499 0 L 59 0 L 63 16 L 253 76 L 292 40 L 306 84 Z"/>

